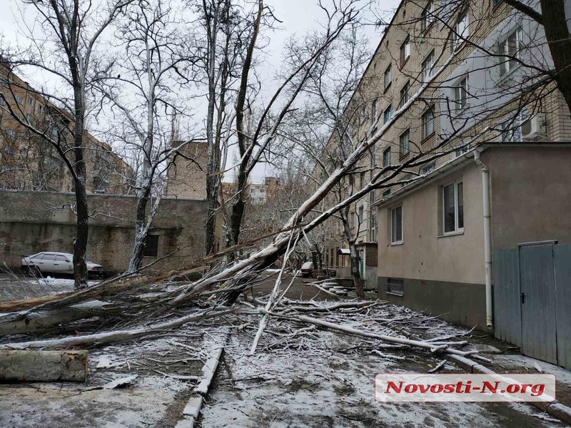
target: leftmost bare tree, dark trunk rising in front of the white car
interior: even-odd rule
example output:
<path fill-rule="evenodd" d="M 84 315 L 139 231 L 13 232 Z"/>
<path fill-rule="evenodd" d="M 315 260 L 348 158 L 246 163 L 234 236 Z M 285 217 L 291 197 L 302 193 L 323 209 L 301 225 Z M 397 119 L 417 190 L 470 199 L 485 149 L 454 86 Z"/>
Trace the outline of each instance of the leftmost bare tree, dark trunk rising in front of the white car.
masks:
<path fill-rule="evenodd" d="M 96 44 L 113 19 L 133 0 L 115 0 L 96 7 L 92 1 L 23 1 L 37 14 L 36 24 L 42 35 L 30 34 L 30 45 L 21 53 L 4 52 L 10 66 L 31 66 L 46 71 L 61 81 L 71 92 L 69 97 L 41 93 L 59 103 L 63 114 L 54 115 L 59 121 L 56 133 L 36 128 L 24 116 L 18 103 L 6 103 L 6 110 L 20 126 L 35 136 L 44 138 L 59 153 L 73 179 L 76 195 L 77 229 L 74 240 L 74 278 L 76 288 L 86 287 L 86 248 L 89 235 L 89 212 L 86 197 L 86 163 L 84 135 L 88 92 L 98 63 Z M 14 101 L 14 92 L 12 92 Z M 0 95 L 6 100 L 6 96 Z M 56 110 L 54 108 L 54 110 Z M 71 119 L 71 120 L 70 120 Z M 61 126 L 60 126 L 61 125 Z M 68 145 L 66 132 L 72 135 Z"/>

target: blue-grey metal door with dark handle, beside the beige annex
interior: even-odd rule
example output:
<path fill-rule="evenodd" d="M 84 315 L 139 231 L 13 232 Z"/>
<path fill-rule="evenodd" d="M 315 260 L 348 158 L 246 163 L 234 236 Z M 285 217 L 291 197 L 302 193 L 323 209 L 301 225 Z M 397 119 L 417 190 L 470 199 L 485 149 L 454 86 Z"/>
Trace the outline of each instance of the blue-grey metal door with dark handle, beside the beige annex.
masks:
<path fill-rule="evenodd" d="M 520 247 L 522 353 L 557 364 L 552 245 Z"/>

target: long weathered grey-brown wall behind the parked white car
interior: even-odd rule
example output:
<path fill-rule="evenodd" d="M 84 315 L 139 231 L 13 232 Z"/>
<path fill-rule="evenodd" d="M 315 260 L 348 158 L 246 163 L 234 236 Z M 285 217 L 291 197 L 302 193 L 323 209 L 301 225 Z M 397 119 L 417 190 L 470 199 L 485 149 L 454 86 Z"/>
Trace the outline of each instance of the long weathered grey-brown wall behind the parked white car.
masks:
<path fill-rule="evenodd" d="M 109 272 L 125 270 L 134 240 L 136 198 L 88 195 L 90 220 L 88 260 Z M 0 263 L 19 267 L 22 254 L 40 251 L 73 252 L 76 217 L 70 207 L 73 193 L 0 191 Z M 161 201 L 151 235 L 159 235 L 158 255 L 185 247 L 168 260 L 171 266 L 201 258 L 204 246 L 206 201 L 165 198 Z M 156 258 L 145 258 L 145 264 Z"/>

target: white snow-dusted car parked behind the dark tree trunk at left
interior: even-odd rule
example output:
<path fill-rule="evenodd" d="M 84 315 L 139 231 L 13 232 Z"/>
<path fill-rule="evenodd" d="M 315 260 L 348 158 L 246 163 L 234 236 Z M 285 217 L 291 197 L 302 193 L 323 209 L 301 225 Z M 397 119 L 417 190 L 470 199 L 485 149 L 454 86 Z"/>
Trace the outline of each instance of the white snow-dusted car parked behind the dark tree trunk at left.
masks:
<path fill-rule="evenodd" d="M 31 275 L 74 275 L 74 255 L 69 253 L 37 253 L 23 255 L 21 269 Z M 103 277 L 103 266 L 87 262 L 89 277 Z"/>

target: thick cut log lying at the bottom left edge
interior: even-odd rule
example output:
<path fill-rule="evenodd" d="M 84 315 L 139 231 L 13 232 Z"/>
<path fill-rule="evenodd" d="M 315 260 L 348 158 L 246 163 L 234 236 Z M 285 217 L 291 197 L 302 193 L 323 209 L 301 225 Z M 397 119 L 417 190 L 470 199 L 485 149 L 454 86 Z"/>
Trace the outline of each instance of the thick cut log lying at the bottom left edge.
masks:
<path fill-rule="evenodd" d="M 0 350 L 0 382 L 85 382 L 87 351 Z"/>

